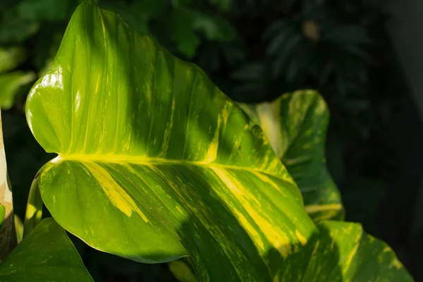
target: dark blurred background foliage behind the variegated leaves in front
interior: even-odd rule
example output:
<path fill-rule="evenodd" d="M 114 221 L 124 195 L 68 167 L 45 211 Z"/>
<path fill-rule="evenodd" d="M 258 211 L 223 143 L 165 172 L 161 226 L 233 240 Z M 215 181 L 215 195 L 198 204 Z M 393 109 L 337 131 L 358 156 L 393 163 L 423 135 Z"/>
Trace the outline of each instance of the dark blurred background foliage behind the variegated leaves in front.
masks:
<path fill-rule="evenodd" d="M 365 0 L 99 0 L 176 56 L 197 63 L 240 102 L 317 89 L 331 111 L 327 161 L 348 221 L 386 240 L 416 280 L 423 278 L 415 214 L 422 124 L 384 25 Z M 16 214 L 51 156 L 23 112 L 30 86 L 49 67 L 77 0 L 0 2 L 0 105 Z M 11 49 L 12 48 L 12 49 Z M 1 56 L 2 50 L 9 54 Z M 13 51 L 13 60 L 8 62 Z M 13 79 L 12 79 L 13 78 Z M 2 97 L 6 96 L 6 98 Z M 407 125 L 407 126 L 405 126 Z M 421 223 L 420 223 L 421 224 Z M 106 255 L 75 239 L 96 281 L 174 281 L 166 264 Z M 420 272 L 419 272 L 420 271 Z"/>

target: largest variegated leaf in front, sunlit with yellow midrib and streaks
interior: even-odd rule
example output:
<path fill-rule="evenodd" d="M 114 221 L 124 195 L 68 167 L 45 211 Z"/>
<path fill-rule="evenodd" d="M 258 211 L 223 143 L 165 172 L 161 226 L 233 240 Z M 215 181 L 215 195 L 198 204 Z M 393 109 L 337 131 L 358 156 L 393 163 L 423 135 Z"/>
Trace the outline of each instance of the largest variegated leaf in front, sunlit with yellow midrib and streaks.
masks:
<path fill-rule="evenodd" d="M 54 219 L 138 262 L 189 255 L 204 281 L 271 281 L 315 231 L 268 140 L 190 63 L 85 3 L 27 121 Z"/>

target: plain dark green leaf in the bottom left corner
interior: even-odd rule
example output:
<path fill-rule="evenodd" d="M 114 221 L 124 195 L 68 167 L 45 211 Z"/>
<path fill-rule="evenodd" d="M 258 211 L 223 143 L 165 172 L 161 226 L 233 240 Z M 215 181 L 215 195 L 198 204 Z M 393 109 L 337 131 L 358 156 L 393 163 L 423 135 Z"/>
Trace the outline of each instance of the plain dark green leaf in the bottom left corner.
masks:
<path fill-rule="evenodd" d="M 44 219 L 0 263 L 2 282 L 92 281 L 66 232 Z"/>

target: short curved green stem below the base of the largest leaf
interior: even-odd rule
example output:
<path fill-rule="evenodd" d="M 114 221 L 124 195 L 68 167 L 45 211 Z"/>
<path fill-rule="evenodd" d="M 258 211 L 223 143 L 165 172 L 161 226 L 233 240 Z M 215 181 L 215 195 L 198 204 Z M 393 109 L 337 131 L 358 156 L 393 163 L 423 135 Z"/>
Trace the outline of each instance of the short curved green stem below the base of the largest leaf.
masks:
<path fill-rule="evenodd" d="M 28 196 L 25 221 L 23 222 L 23 238 L 41 221 L 43 202 L 39 194 L 38 173 L 32 180 L 30 195 Z"/>

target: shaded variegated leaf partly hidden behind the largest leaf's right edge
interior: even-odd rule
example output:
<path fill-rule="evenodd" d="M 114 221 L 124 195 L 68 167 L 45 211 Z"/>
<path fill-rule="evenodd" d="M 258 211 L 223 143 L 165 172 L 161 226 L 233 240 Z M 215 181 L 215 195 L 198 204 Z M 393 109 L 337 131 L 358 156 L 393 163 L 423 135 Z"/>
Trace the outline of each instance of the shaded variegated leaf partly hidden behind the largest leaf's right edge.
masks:
<path fill-rule="evenodd" d="M 297 91 L 270 103 L 241 106 L 264 130 L 298 184 L 305 209 L 314 221 L 343 219 L 341 195 L 326 168 L 329 111 L 319 93 Z"/>

